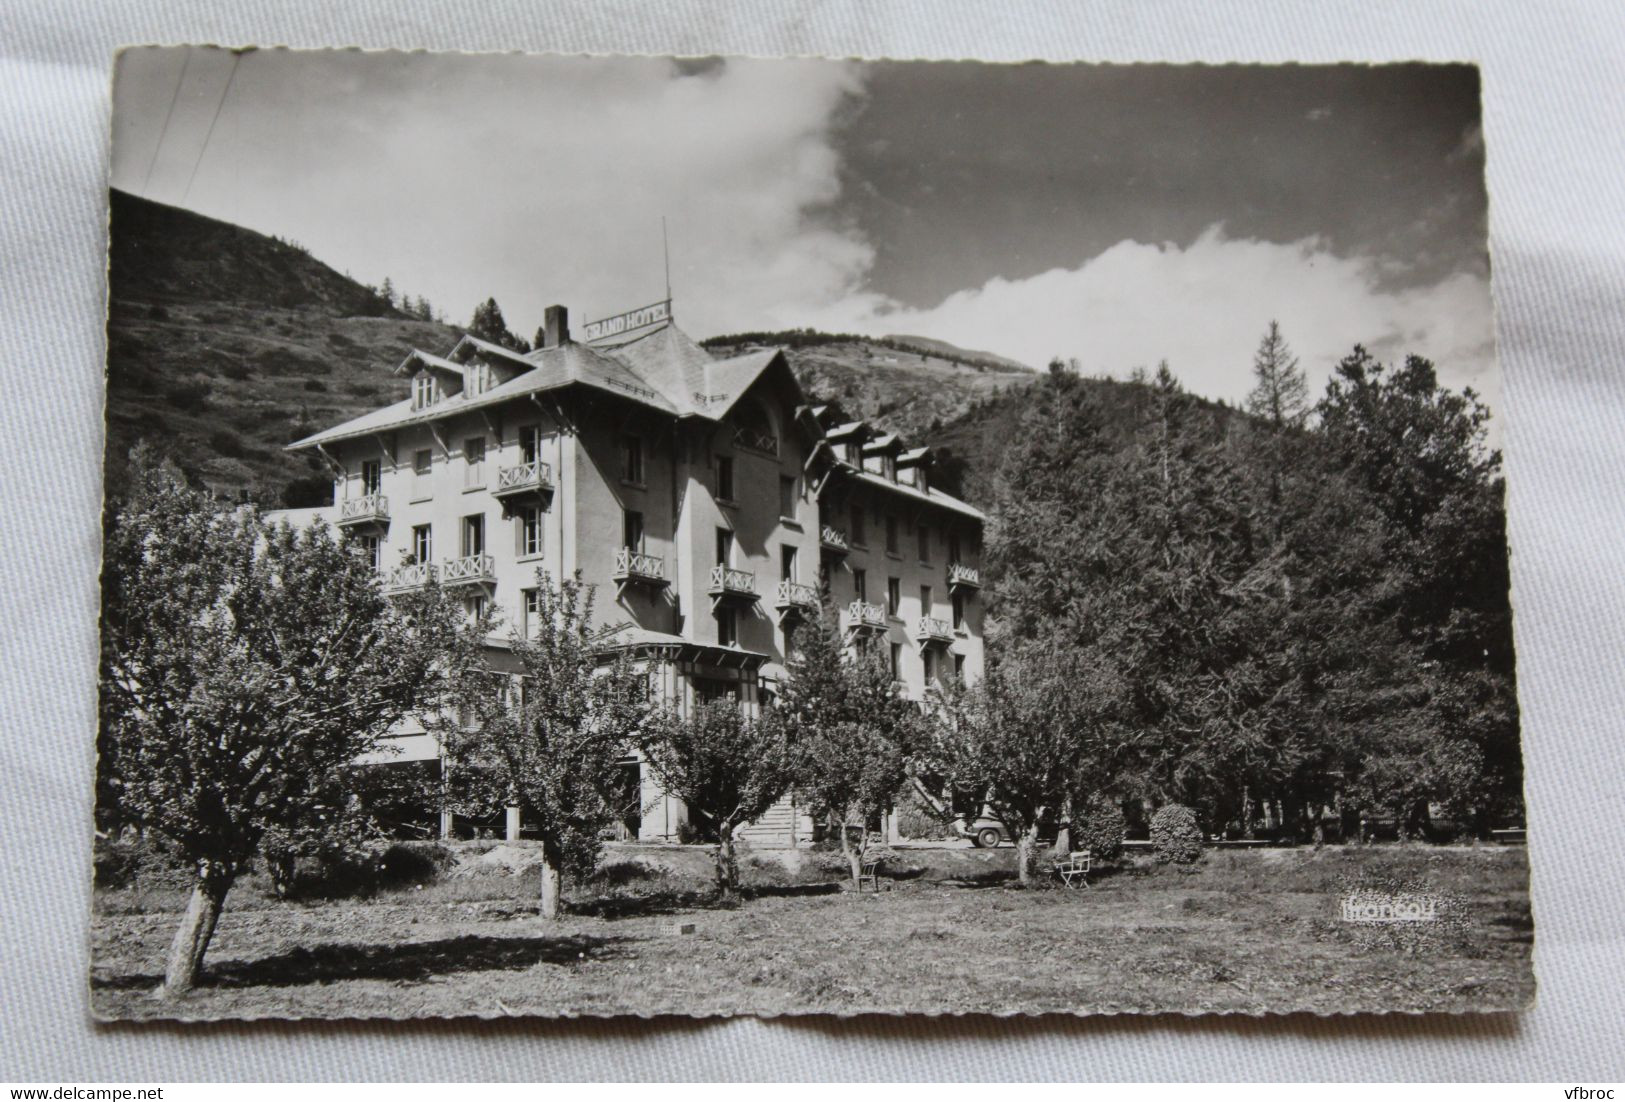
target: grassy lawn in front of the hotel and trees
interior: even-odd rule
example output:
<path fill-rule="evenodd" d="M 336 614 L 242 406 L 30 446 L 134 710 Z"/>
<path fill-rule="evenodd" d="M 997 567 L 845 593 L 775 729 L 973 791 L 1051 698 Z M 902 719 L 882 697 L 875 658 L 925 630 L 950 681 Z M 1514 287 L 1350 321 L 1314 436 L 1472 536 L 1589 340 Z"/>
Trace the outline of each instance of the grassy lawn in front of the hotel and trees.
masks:
<path fill-rule="evenodd" d="M 520 852 L 522 855 L 522 852 Z M 102 1017 L 411 1017 L 1020 1011 L 1487 1011 L 1534 995 L 1521 848 L 1211 853 L 1087 891 L 1020 891 L 1012 852 L 908 850 L 879 894 L 827 855 L 757 853 L 751 897 L 708 904 L 708 852 L 618 848 L 536 917 L 535 870 L 504 847 L 367 900 L 288 904 L 250 879 L 226 902 L 205 987 L 166 1004 L 184 892 L 99 891 Z M 1453 900 L 1420 939 L 1339 917 L 1352 879 Z M 696 925 L 673 933 L 674 922 Z M 1406 931 L 1409 933 L 1409 931 Z"/>

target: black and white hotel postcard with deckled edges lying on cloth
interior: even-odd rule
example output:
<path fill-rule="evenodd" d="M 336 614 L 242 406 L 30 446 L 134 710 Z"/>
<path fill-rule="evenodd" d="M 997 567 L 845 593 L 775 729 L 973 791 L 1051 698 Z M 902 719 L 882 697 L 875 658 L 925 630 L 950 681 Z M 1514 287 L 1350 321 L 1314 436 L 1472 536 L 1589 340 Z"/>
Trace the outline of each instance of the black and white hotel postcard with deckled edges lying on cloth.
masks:
<path fill-rule="evenodd" d="M 114 70 L 98 1019 L 1534 1004 L 1476 65 Z"/>

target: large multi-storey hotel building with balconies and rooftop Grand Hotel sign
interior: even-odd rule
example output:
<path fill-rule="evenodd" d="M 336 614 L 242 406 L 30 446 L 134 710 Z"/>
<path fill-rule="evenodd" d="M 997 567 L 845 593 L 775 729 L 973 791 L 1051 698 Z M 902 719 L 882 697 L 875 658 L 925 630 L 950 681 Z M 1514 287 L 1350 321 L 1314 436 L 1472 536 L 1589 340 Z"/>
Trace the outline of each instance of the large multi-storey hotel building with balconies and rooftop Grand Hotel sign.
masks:
<path fill-rule="evenodd" d="M 496 611 L 497 668 L 544 567 L 595 587 L 606 652 L 650 663 L 679 709 L 770 701 L 819 587 L 848 637 L 887 649 L 907 696 L 980 676 L 983 517 L 931 484 L 930 449 L 809 405 L 778 349 L 713 358 L 670 302 L 583 340 L 549 307 L 544 336 L 523 354 L 474 336 L 413 351 L 406 398 L 289 445 L 335 478 L 333 505 L 291 518 L 351 531 L 387 588 L 434 577 Z M 426 731 L 395 741 L 393 762 L 440 761 Z M 630 759 L 624 788 L 626 837 L 679 837 L 681 801 Z M 741 834 L 804 844 L 808 811 L 785 800 Z M 517 809 L 499 829 L 522 834 Z"/>

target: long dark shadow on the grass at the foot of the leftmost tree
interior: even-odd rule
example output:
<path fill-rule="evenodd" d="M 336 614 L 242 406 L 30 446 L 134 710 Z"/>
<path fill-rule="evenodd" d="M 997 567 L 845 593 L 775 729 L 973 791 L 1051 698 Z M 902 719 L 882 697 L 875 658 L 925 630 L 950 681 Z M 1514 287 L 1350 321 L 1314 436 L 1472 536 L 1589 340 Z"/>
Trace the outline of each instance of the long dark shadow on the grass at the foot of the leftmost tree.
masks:
<path fill-rule="evenodd" d="M 224 961 L 205 967 L 200 987 L 302 987 L 336 980 L 427 980 L 457 972 L 518 972 L 536 964 L 575 964 L 619 956 L 624 938 L 488 938 L 466 935 L 401 944 L 322 944 L 258 961 Z M 151 990 L 161 975 L 93 977 L 102 990 Z"/>

